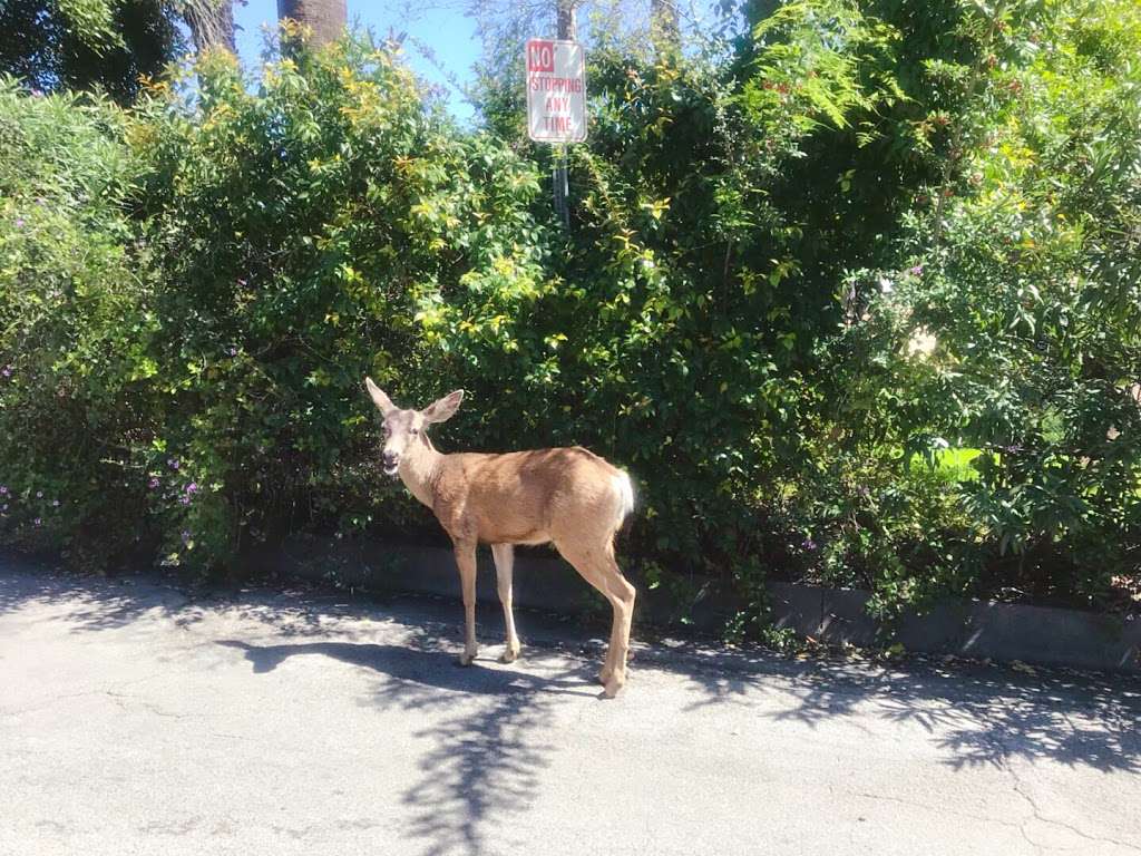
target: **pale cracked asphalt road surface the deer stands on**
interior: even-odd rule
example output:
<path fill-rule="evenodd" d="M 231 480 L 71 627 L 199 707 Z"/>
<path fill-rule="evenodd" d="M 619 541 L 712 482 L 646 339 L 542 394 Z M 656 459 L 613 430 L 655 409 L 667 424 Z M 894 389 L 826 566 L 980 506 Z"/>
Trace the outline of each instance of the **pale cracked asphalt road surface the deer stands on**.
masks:
<path fill-rule="evenodd" d="M 1141 853 L 1136 679 L 461 617 L 0 560 L 0 854 Z"/>

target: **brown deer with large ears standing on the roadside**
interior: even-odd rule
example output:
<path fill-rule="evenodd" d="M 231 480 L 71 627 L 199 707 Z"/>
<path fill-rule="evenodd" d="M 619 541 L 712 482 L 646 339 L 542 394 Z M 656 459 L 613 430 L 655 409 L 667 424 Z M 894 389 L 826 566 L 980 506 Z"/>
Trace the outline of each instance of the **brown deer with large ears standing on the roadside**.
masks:
<path fill-rule="evenodd" d="M 365 387 L 383 418 L 385 475 L 399 479 L 436 515 L 452 540 L 463 598 L 464 644 L 460 665 L 476 659 L 476 550 L 491 544 L 507 645 L 501 661 L 518 659 L 521 645 L 511 608 L 515 547 L 553 544 L 559 555 L 613 608 L 606 660 L 598 673 L 602 694 L 626 683 L 630 623 L 636 589 L 622 575 L 614 539 L 634 510 L 630 476 L 581 447 L 502 454 L 438 452 L 430 426 L 451 419 L 463 401 L 458 389 L 423 410 L 397 407 L 371 378 Z"/>

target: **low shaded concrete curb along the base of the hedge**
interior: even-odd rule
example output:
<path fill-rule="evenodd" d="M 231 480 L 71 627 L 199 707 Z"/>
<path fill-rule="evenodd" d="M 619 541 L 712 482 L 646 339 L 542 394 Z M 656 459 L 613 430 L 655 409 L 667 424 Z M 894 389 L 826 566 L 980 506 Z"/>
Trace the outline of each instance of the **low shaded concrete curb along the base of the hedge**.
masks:
<path fill-rule="evenodd" d="M 262 571 L 364 590 L 459 597 L 452 551 L 443 547 L 306 538 L 264 550 L 250 562 Z M 517 606 L 578 615 L 609 612 L 574 568 L 545 551 L 520 549 L 515 567 Z M 777 627 L 832 644 L 867 647 L 885 640 L 865 608 L 867 591 L 767 586 Z M 666 592 L 639 589 L 638 621 L 677 621 L 677 606 Z M 499 603 L 495 566 L 486 548 L 479 551 L 477 596 L 480 603 Z M 695 629 L 715 633 L 741 606 L 727 592 L 712 592 L 694 605 L 688 617 Z M 905 615 L 891 640 L 926 654 L 1141 675 L 1141 620 L 1077 609 L 947 600 L 924 615 Z"/>

